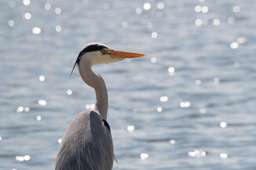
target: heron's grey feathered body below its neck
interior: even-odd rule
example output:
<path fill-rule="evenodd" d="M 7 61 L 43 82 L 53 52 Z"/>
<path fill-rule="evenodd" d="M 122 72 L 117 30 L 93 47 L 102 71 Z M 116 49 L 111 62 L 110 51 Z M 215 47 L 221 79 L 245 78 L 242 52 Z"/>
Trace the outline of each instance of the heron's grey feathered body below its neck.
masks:
<path fill-rule="evenodd" d="M 79 114 L 62 139 L 55 169 L 112 169 L 114 149 L 110 131 L 94 111 Z"/>

